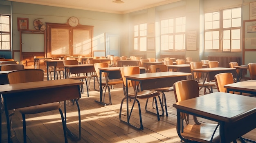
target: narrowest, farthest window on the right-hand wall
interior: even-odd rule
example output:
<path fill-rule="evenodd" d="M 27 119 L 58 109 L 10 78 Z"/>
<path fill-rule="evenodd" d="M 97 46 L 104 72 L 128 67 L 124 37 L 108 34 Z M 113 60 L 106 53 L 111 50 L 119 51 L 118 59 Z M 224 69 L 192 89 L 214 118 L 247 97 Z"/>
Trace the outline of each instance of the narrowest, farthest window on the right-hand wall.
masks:
<path fill-rule="evenodd" d="M 147 24 L 134 26 L 134 50 L 147 51 Z"/>

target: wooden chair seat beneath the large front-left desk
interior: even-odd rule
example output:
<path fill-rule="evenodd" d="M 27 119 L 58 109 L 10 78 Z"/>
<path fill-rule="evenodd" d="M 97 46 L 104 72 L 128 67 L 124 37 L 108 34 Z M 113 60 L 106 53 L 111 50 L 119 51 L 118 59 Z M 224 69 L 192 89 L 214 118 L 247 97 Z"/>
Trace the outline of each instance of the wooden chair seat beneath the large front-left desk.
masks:
<path fill-rule="evenodd" d="M 41 112 L 57 110 L 59 108 L 61 108 L 61 104 L 58 102 L 55 102 L 55 103 L 47 103 L 47 104 L 42 104 L 37 106 L 19 108 L 19 111 L 21 114 L 36 114 Z"/>

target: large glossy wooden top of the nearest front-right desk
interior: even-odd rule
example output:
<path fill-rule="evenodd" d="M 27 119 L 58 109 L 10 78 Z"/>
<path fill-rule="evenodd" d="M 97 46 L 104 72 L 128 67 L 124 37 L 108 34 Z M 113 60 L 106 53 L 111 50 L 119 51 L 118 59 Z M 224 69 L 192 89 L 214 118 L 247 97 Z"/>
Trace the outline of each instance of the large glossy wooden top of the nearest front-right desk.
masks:
<path fill-rule="evenodd" d="M 256 98 L 226 92 L 214 92 L 177 102 L 173 107 L 218 121 L 235 122 L 256 112 Z"/>

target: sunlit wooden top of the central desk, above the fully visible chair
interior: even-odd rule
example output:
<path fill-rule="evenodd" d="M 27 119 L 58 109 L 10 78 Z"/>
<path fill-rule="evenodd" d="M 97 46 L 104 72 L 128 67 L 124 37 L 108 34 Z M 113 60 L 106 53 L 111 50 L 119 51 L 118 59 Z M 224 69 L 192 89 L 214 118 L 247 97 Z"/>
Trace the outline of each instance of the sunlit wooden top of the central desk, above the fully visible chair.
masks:
<path fill-rule="evenodd" d="M 191 73 L 181 73 L 181 72 L 159 72 L 159 73 L 142 73 L 136 75 L 126 75 L 127 79 L 135 79 L 135 80 L 145 80 L 145 79 L 158 79 L 165 77 L 178 77 L 178 76 L 187 76 L 191 75 Z"/>

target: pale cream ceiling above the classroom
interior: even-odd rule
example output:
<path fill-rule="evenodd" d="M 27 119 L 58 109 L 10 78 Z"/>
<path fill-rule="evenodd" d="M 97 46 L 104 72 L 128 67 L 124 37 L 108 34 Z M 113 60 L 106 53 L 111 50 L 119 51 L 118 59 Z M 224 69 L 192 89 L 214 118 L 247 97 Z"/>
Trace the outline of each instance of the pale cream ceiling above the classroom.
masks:
<path fill-rule="evenodd" d="M 25 2 L 30 4 L 41 4 L 55 7 L 66 7 L 73 9 L 84 9 L 107 13 L 130 13 L 142 9 L 148 9 L 163 4 L 177 2 L 180 0 L 122 0 L 124 3 L 113 3 L 113 0 L 9 0 L 13 2 Z"/>

